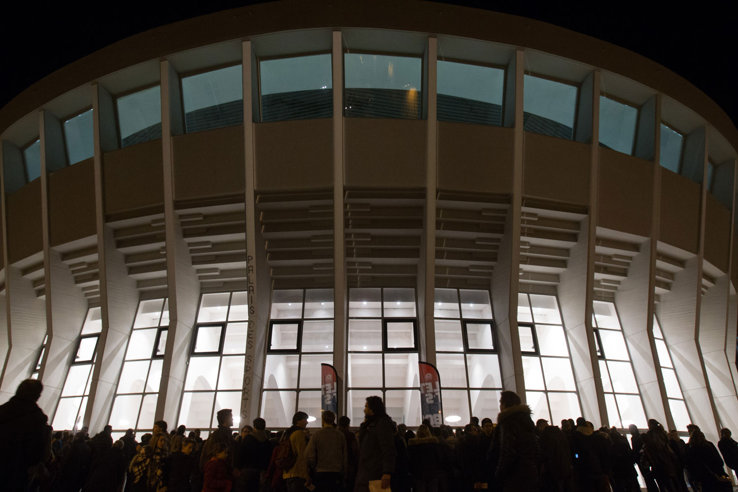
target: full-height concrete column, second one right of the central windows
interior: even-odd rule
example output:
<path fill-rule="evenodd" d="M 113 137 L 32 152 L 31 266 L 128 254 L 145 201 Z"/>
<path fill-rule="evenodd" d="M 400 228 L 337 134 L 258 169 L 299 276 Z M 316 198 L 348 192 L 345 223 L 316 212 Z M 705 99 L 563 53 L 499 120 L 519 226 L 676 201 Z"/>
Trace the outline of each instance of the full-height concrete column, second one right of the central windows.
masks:
<path fill-rule="evenodd" d="M 525 52 L 517 49 L 507 69 L 503 125 L 514 129 L 513 180 L 505 232 L 492 271 L 492 304 L 500 342 L 503 387 L 525 401 L 523 358 L 517 330 L 517 292 L 520 283 L 520 215 L 523 203 L 523 69 Z"/>

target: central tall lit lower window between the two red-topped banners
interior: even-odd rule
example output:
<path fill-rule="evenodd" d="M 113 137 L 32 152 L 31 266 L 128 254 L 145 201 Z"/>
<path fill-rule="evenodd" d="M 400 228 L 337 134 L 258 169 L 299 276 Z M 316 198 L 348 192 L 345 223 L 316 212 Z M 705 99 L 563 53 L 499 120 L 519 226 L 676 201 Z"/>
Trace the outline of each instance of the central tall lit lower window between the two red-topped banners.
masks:
<path fill-rule="evenodd" d="M 348 318 L 348 416 L 361 421 L 366 397 L 382 395 L 393 420 L 418 426 L 415 289 L 352 288 Z"/>

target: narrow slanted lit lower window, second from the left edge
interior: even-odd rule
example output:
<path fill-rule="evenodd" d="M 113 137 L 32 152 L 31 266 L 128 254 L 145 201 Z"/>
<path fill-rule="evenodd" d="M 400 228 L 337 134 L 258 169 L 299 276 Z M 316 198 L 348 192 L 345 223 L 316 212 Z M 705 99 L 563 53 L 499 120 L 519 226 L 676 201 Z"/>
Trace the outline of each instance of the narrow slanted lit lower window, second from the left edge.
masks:
<path fill-rule="evenodd" d="M 54 429 L 73 430 L 80 425 L 87 407 L 92 366 L 97 358 L 97 339 L 100 338 L 102 328 L 100 308 L 87 310 L 80 337 L 77 339 L 75 358 L 69 367 L 54 414 Z"/>

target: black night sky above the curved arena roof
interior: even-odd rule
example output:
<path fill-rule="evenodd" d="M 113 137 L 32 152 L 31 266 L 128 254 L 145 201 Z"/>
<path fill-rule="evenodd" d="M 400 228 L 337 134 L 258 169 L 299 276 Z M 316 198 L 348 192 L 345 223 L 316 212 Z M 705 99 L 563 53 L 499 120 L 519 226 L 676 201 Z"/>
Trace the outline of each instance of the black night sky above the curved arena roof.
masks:
<path fill-rule="evenodd" d="M 340 0 L 335 0 L 340 1 Z M 398 0 L 399 2 L 401 0 Z M 370 2 L 370 0 L 367 0 Z M 0 25 L 0 106 L 35 81 L 130 35 L 185 18 L 255 1 L 55 2 L 39 7 L 18 1 L 4 6 Z M 738 125 L 738 16 L 728 2 L 702 1 L 694 8 L 666 9 L 650 2 L 494 2 L 446 0 L 550 22 L 631 49 L 661 63 L 694 83 Z M 595 5 L 596 4 L 596 5 Z M 696 9 L 700 10 L 697 11 Z"/>

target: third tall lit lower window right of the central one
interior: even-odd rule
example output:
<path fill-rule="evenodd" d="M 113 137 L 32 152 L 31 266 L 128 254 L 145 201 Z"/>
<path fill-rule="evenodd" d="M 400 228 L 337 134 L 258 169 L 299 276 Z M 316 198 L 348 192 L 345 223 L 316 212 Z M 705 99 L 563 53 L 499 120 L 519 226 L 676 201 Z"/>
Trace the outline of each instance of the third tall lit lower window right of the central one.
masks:
<path fill-rule="evenodd" d="M 627 429 L 634 423 L 638 429 L 645 429 L 646 413 L 615 304 L 594 301 L 593 311 L 592 327 L 610 425 Z"/>

